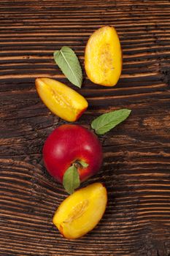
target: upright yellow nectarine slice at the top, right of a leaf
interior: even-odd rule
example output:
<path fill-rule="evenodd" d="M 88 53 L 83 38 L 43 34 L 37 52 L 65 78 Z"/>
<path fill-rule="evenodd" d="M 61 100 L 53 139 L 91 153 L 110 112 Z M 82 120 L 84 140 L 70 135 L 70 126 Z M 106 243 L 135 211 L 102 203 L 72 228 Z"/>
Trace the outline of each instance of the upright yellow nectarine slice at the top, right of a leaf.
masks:
<path fill-rule="evenodd" d="M 122 71 L 122 51 L 112 26 L 97 29 L 85 48 L 85 71 L 88 78 L 101 86 L 115 86 Z"/>

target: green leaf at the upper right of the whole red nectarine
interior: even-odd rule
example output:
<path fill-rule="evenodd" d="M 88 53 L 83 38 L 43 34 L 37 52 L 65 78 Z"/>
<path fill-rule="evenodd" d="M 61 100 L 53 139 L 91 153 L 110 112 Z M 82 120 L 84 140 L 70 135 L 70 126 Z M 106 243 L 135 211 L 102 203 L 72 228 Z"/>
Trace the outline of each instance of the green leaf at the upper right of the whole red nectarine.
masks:
<path fill-rule="evenodd" d="M 95 130 L 97 135 L 103 135 L 109 132 L 110 129 L 120 124 L 130 115 L 131 110 L 120 109 L 109 113 L 105 113 L 98 118 L 94 119 L 91 123 L 91 127 Z"/>

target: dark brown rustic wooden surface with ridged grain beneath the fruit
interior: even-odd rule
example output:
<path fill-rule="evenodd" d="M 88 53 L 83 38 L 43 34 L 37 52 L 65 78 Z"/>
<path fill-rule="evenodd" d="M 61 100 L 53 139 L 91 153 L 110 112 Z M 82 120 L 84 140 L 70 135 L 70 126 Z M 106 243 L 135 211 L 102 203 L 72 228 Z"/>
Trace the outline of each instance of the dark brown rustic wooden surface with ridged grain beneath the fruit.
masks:
<path fill-rule="evenodd" d="M 0 255 L 170 255 L 170 2 L 1 0 Z M 84 185 L 103 181 L 109 195 L 98 226 L 77 241 L 53 226 L 66 198 L 47 174 L 42 146 L 64 122 L 36 94 L 34 78 L 58 78 L 53 51 L 72 47 L 83 67 L 85 44 L 99 26 L 115 26 L 123 74 L 113 88 L 85 78 L 90 107 L 79 124 L 130 108 L 127 121 L 100 138 L 104 165 Z M 84 72 L 85 76 L 85 72 Z"/>

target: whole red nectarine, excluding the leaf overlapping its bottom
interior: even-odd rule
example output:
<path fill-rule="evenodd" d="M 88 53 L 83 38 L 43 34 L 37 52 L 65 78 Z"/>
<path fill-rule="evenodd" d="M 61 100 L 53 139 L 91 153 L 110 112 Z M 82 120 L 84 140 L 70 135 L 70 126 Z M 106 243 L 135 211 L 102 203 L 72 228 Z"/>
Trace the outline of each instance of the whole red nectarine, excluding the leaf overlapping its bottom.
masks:
<path fill-rule="evenodd" d="M 101 143 L 90 130 L 76 124 L 63 124 L 56 128 L 45 141 L 43 158 L 48 172 L 62 183 L 63 174 L 76 161 L 80 181 L 85 181 L 98 172 L 103 159 Z"/>

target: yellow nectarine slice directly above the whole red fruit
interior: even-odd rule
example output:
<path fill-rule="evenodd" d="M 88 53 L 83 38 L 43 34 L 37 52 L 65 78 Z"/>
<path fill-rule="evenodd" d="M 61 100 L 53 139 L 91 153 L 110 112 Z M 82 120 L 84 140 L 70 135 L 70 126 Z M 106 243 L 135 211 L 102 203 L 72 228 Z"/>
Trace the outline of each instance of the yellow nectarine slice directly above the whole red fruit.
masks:
<path fill-rule="evenodd" d="M 36 78 L 36 90 L 47 108 L 66 121 L 77 121 L 88 108 L 82 95 L 57 80 Z"/>

